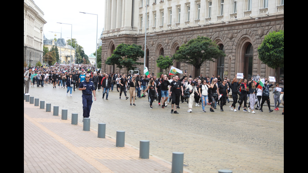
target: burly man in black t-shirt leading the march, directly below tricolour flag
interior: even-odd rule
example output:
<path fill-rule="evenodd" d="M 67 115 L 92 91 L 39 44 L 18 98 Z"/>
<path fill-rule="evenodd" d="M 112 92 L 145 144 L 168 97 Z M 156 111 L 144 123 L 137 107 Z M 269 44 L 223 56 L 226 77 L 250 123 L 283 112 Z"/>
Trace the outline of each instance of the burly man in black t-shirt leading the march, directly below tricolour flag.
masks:
<path fill-rule="evenodd" d="M 172 81 L 169 86 L 169 95 L 171 95 L 171 98 L 172 98 L 171 113 L 178 114 L 178 112 L 176 111 L 176 108 L 180 103 L 181 93 L 182 95 L 184 95 L 183 86 L 181 84 L 181 81 L 179 81 L 179 76 L 175 76 L 175 80 Z M 173 111 L 174 104 L 175 104 L 175 108 Z"/>

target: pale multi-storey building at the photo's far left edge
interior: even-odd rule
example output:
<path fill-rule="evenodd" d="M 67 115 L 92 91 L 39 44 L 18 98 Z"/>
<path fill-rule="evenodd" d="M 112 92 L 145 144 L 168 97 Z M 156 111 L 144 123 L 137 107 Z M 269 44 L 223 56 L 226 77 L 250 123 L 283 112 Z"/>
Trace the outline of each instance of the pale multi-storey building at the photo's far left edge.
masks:
<path fill-rule="evenodd" d="M 24 0 L 24 62 L 43 61 L 43 30 L 47 22 L 43 11 L 32 0 Z"/>

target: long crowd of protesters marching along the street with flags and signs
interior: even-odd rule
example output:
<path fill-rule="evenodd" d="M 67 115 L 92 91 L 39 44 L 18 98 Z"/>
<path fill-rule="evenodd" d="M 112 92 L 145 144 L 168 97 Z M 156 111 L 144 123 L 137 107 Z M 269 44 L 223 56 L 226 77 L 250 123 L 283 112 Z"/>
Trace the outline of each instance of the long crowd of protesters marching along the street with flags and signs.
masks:
<path fill-rule="evenodd" d="M 153 109 L 153 102 L 157 101 L 158 106 L 166 108 L 171 103 L 171 113 L 178 114 L 177 109 L 180 107 L 180 102 L 187 103 L 188 112 L 192 112 L 193 105 L 202 106 L 202 111 L 206 112 L 206 105 L 209 106 L 209 111 L 214 112 L 217 109 L 216 105 L 220 106 L 220 111 L 223 106 L 230 102 L 229 92 L 232 91 L 233 103 L 229 106 L 231 111 L 237 112 L 241 108 L 243 111 L 256 113 L 254 110 L 263 112 L 263 104 L 266 102 L 268 111 L 273 110 L 270 107 L 269 89 L 275 84 L 269 84 L 265 79 L 265 84 L 262 89 L 258 87 L 252 79 L 238 79 L 237 75 L 233 80 L 229 81 L 227 77 L 221 79 L 212 75 L 197 76 L 193 78 L 187 73 L 183 74 L 182 78 L 178 75 L 167 76 L 161 74 L 159 77 L 153 73 L 150 77 L 146 75 L 124 74 L 124 73 L 101 73 L 100 70 L 95 71 L 93 65 L 80 64 L 58 64 L 53 66 L 31 67 L 24 70 L 24 85 L 25 94 L 29 94 L 29 87 L 44 87 L 44 85 L 52 85 L 53 88 L 66 88 L 66 95 L 68 93 L 72 96 L 72 91 L 79 88 L 79 84 L 85 80 L 85 76 L 89 74 L 90 80 L 94 84 L 95 90 L 102 89 L 102 99 L 108 100 L 109 91 L 117 89 L 119 92 L 119 99 L 124 94 L 125 99 L 129 99 L 130 105 L 136 105 L 135 100 L 147 98 L 150 102 L 150 108 Z M 281 84 L 281 81 L 279 82 Z M 279 84 L 275 85 L 273 89 L 275 109 L 279 110 L 281 100 L 279 96 L 284 93 L 284 89 L 277 90 Z M 129 96 L 126 94 L 129 92 Z M 106 97 L 105 97 L 106 96 Z M 247 99 L 250 99 L 247 107 Z M 133 102 L 133 104 L 132 104 Z M 239 103 L 238 107 L 236 104 Z M 243 104 L 244 103 L 244 104 Z M 196 110 L 197 111 L 197 110 Z M 284 114 L 284 111 L 282 112 Z"/>

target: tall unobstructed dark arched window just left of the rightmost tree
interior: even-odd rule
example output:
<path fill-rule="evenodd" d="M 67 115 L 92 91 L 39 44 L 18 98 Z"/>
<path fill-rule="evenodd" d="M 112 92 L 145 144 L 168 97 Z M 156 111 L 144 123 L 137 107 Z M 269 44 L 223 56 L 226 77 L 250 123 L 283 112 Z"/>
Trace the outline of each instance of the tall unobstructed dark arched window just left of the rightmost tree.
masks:
<path fill-rule="evenodd" d="M 244 65 L 244 76 L 246 79 L 252 77 L 252 63 L 253 63 L 253 46 L 249 43 L 245 50 L 244 55 L 245 65 Z"/>

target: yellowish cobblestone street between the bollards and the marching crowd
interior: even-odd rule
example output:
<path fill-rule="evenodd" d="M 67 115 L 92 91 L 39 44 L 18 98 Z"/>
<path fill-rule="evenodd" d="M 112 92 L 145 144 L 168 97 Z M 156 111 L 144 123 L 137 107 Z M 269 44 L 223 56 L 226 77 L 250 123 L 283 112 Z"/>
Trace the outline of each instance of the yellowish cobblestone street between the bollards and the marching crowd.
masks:
<path fill-rule="evenodd" d="M 70 97 L 66 89 L 48 85 L 30 87 L 29 93 L 45 104 L 51 103 L 52 108 L 59 106 L 59 114 L 61 109 L 68 109 L 69 119 L 72 113 L 78 113 L 78 122 L 82 123 L 81 91 L 76 89 Z M 234 173 L 284 172 L 283 108 L 269 113 L 264 105 L 264 112 L 233 112 L 228 107 L 230 102 L 223 106 L 223 112 L 218 105 L 210 112 L 206 105 L 204 113 L 201 106 L 193 104 L 189 113 L 187 104 L 180 103 L 179 114 L 171 114 L 171 104 L 162 109 L 155 101 L 150 109 L 147 98 L 136 99 L 136 106 L 130 106 L 124 93 L 119 99 L 116 88 L 109 92 L 108 100 L 102 100 L 102 90 L 96 90 L 96 99 L 90 113 L 91 129 L 97 131 L 98 123 L 106 123 L 106 136 L 115 138 L 116 131 L 123 130 L 125 143 L 135 147 L 140 140 L 149 140 L 150 153 L 169 162 L 172 152 L 184 152 L 184 168 L 194 173 L 216 173 L 220 169 Z"/>

